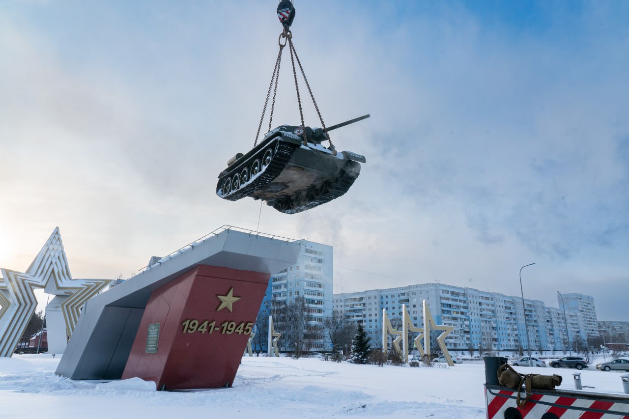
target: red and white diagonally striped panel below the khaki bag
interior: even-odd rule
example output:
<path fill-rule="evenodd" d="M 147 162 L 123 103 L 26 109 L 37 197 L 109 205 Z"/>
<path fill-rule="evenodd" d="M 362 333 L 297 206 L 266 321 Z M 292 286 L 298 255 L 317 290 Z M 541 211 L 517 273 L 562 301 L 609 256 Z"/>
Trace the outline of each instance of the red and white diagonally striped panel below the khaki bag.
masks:
<path fill-rule="evenodd" d="M 492 394 L 494 393 L 494 394 Z M 485 391 L 487 403 L 487 419 L 504 419 L 504 411 L 508 408 L 517 408 L 523 418 L 540 419 L 544 413 L 554 413 L 562 419 L 629 419 L 629 401 L 627 403 L 615 403 L 613 401 L 596 400 L 594 398 L 574 398 L 562 396 L 560 394 L 540 394 L 533 393 L 523 408 L 518 408 L 516 399 L 501 396 L 517 396 L 516 391 L 500 390 Z M 553 403 L 558 406 L 542 405 L 535 401 Z M 602 411 L 583 411 L 579 408 L 591 408 L 596 410 L 609 411 L 614 413 L 604 413 Z"/>

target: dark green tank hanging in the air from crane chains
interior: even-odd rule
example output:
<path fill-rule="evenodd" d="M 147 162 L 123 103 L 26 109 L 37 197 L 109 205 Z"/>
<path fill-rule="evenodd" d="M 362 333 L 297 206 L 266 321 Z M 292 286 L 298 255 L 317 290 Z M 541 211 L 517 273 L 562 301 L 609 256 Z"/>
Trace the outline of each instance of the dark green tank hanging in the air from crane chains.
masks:
<path fill-rule="evenodd" d="M 330 126 L 327 131 L 369 118 Z M 238 153 L 218 176 L 216 194 L 237 201 L 262 199 L 286 214 L 310 210 L 345 194 L 360 174 L 365 157 L 323 147 L 322 128 L 282 125 L 265 135 L 247 154 Z"/>

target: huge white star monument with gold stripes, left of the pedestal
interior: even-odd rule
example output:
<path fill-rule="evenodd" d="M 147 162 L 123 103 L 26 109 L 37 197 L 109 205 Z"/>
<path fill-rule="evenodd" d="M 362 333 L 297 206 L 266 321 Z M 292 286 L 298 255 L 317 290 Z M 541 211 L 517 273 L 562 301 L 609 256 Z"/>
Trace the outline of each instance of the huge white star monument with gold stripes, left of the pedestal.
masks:
<path fill-rule="evenodd" d="M 59 228 L 26 272 L 0 268 L 0 357 L 10 357 L 35 312 L 35 288 L 54 298 L 46 306 L 48 352 L 63 354 L 83 304 L 111 279 L 72 279 Z"/>

